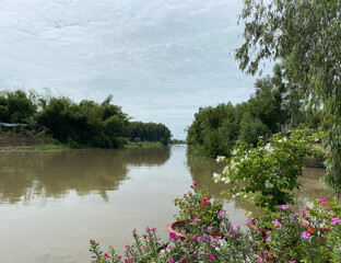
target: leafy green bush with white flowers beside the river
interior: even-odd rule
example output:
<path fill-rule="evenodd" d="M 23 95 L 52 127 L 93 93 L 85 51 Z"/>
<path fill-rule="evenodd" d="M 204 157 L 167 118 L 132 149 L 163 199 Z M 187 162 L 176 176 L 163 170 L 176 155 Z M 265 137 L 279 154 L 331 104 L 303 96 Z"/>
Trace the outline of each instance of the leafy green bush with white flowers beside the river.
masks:
<path fill-rule="evenodd" d="M 322 155 L 311 145 L 320 139 L 320 134 L 294 130 L 289 136 L 273 135 L 266 144 L 261 138 L 256 148 L 239 141 L 232 157 L 217 157 L 227 165 L 222 174 L 214 173 L 214 182 L 235 184 L 226 193 L 242 195 L 264 210 L 274 210 L 277 205 L 293 204 L 292 191 L 299 188 L 297 178 L 303 174 L 304 159 Z"/>

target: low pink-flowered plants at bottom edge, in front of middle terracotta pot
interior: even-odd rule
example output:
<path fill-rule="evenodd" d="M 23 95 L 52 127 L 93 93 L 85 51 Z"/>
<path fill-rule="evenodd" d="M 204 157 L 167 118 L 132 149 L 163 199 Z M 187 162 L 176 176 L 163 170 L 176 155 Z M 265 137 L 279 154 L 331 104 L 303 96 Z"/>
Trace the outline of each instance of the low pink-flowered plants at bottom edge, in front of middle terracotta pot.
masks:
<path fill-rule="evenodd" d="M 256 262 L 257 253 L 251 249 L 252 240 L 249 233 L 243 232 L 240 226 L 233 226 L 226 213 L 221 210 L 221 230 L 216 236 L 212 228 L 198 237 L 186 237 L 183 241 L 175 233 L 169 233 L 167 243 L 161 243 L 155 228 L 146 228 L 145 233 L 138 236 L 132 231 L 133 244 L 127 244 L 125 259 L 115 253 L 110 247 L 108 253 L 99 250 L 99 243 L 90 240 L 92 263 L 114 262 Z"/>

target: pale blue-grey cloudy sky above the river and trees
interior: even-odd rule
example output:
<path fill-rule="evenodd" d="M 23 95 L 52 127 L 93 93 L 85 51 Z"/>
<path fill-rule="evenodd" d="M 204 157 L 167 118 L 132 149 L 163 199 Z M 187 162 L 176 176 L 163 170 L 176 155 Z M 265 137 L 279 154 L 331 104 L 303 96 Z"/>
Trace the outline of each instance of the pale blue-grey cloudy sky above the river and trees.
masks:
<path fill-rule="evenodd" d="M 114 95 L 132 121 L 174 138 L 199 107 L 248 100 L 234 59 L 242 0 L 1 0 L 0 90 L 75 102 Z"/>

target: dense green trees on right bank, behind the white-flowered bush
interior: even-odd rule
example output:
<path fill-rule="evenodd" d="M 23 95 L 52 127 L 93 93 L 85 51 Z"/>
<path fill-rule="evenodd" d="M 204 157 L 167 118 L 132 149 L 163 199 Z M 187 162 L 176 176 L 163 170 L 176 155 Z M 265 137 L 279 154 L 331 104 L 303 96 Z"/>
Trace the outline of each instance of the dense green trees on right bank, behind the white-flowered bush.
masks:
<path fill-rule="evenodd" d="M 187 128 L 187 144 L 199 155 L 230 156 L 237 140 L 258 142 L 281 132 L 281 125 L 292 127 L 318 127 L 319 108 L 303 103 L 298 85 L 291 79 L 284 66 L 275 65 L 273 76 L 258 79 L 255 94 L 247 102 L 231 102 L 215 107 L 200 107 L 193 123 Z"/>

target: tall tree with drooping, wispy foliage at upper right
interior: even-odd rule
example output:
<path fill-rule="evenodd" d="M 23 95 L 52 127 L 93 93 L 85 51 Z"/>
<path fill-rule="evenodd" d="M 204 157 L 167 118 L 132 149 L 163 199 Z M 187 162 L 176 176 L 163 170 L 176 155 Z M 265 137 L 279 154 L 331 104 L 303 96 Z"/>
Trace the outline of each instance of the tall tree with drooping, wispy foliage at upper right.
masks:
<path fill-rule="evenodd" d="M 239 67 L 255 75 L 262 59 L 280 59 L 310 103 L 324 105 L 328 174 L 325 182 L 341 192 L 341 1 L 246 0 L 240 20 L 244 43 Z"/>

